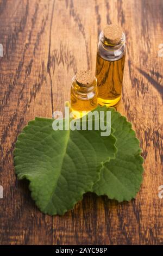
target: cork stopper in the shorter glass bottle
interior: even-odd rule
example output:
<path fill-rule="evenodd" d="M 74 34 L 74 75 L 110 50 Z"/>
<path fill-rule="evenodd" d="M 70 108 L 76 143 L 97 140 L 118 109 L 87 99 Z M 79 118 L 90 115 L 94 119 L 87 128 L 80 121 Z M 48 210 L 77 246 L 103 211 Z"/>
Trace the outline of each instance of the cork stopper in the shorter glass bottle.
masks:
<path fill-rule="evenodd" d="M 95 76 L 91 70 L 79 70 L 76 74 L 76 81 L 84 86 L 90 86 L 94 79 Z"/>

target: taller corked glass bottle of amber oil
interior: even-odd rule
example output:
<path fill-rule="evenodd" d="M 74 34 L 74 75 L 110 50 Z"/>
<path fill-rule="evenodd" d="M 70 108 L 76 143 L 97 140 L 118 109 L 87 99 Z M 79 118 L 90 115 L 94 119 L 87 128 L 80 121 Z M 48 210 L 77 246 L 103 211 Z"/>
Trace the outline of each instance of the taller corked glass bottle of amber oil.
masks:
<path fill-rule="evenodd" d="M 99 35 L 96 58 L 98 103 L 117 106 L 121 100 L 126 37 L 118 25 L 107 25 Z"/>

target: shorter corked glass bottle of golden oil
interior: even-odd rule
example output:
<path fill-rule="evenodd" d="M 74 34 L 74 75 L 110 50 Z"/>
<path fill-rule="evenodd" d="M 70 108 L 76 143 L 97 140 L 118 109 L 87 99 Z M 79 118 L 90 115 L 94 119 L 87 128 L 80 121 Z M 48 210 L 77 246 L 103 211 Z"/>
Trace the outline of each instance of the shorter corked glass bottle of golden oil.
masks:
<path fill-rule="evenodd" d="M 89 112 L 98 106 L 97 79 L 90 70 L 79 70 L 72 78 L 71 111 L 82 117 L 82 111 Z"/>

